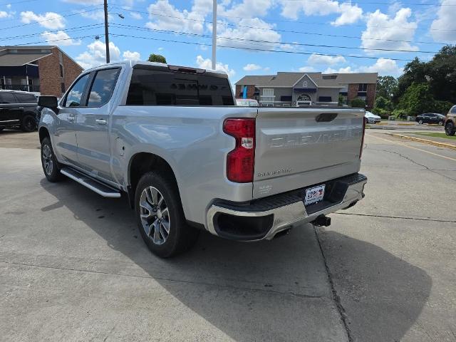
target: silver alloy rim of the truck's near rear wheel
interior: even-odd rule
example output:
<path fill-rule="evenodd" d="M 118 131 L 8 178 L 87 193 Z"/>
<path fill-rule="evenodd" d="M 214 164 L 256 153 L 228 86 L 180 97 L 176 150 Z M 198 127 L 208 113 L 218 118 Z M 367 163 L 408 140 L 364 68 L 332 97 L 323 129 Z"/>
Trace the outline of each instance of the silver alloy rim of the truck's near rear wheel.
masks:
<path fill-rule="evenodd" d="M 142 229 L 154 244 L 164 244 L 170 236 L 170 211 L 156 187 L 146 187 L 140 197 Z"/>

